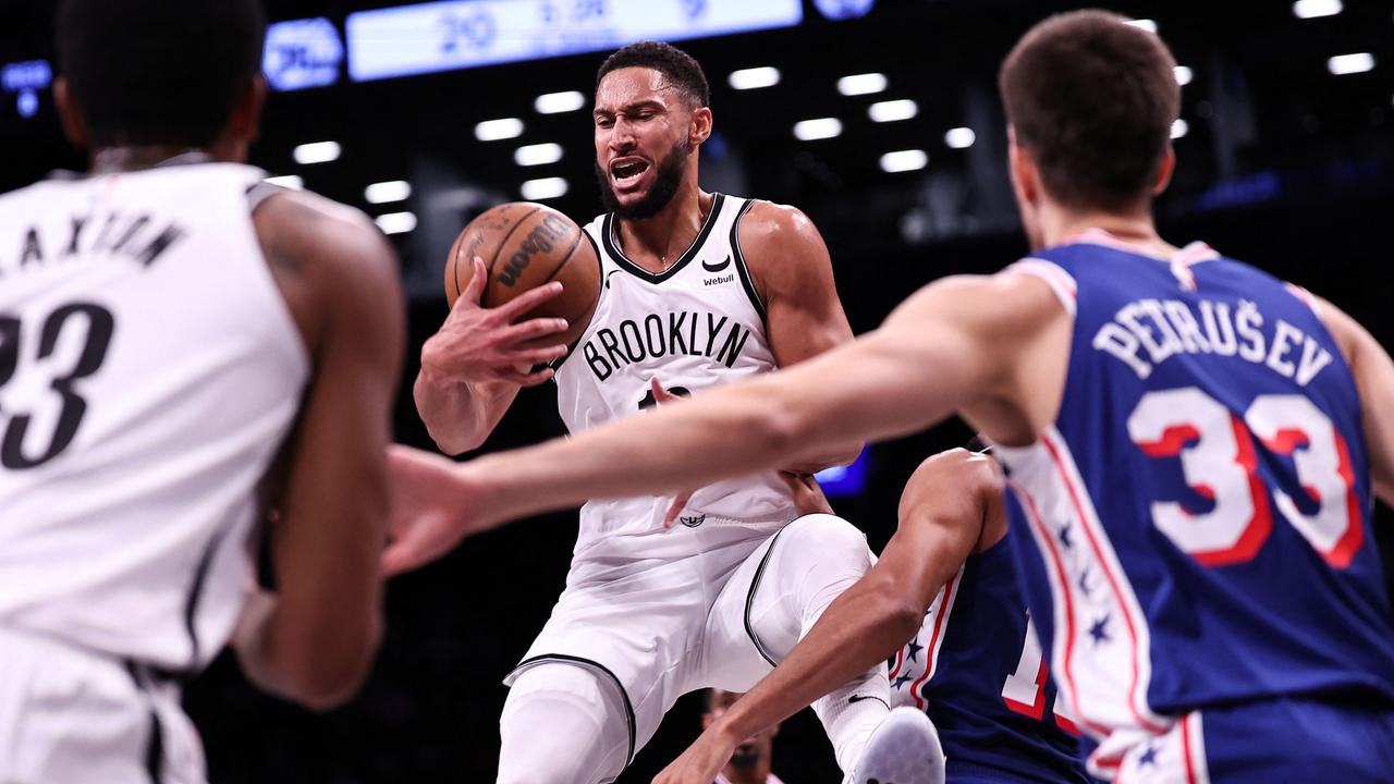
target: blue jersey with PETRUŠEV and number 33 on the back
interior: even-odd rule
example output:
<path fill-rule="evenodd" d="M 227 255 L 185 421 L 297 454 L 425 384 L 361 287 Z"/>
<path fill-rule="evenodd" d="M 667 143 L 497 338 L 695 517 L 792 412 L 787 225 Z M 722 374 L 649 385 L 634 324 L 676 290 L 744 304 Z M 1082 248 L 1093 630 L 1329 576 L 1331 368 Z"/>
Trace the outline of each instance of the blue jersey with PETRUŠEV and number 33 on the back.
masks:
<path fill-rule="evenodd" d="M 998 456 L 1037 632 L 1100 755 L 1206 706 L 1394 704 L 1361 400 L 1310 296 L 1101 232 L 1015 269 L 1075 318 L 1054 427 Z"/>

